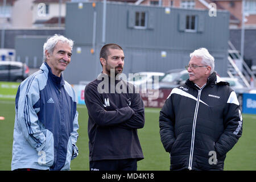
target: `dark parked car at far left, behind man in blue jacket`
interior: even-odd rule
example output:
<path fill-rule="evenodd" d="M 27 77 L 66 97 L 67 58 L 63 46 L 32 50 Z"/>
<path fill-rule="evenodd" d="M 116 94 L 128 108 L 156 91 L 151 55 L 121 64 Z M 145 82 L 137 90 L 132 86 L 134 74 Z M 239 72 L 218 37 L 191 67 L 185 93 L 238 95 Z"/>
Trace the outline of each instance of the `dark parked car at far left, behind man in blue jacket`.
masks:
<path fill-rule="evenodd" d="M 28 77 L 29 68 L 17 61 L 0 61 L 0 81 L 22 82 Z"/>

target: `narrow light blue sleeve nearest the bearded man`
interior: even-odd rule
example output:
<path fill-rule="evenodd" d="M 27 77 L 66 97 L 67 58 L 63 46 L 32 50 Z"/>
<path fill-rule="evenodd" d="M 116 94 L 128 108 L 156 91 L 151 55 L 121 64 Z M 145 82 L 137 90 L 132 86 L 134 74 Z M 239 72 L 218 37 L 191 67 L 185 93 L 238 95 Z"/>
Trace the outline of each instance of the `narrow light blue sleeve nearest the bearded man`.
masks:
<path fill-rule="evenodd" d="M 79 154 L 79 150 L 76 146 L 77 138 L 79 137 L 79 134 L 77 133 L 77 130 L 79 129 L 78 115 L 79 115 L 79 113 L 76 111 L 76 115 L 73 120 L 73 131 L 71 133 L 72 148 L 73 148 L 73 154 L 72 154 L 71 160 L 75 159 L 77 157 L 77 155 Z"/>

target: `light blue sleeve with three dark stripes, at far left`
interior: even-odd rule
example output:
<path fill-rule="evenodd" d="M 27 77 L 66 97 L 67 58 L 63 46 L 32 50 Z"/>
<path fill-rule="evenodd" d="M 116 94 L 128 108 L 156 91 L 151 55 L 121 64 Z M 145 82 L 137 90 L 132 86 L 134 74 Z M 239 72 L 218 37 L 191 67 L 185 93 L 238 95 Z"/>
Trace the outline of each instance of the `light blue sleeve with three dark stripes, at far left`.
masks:
<path fill-rule="evenodd" d="M 24 138 L 35 148 L 41 151 L 46 144 L 46 136 L 40 130 L 38 108 L 34 105 L 39 100 L 39 84 L 35 77 L 31 77 L 20 84 L 16 94 L 16 122 L 22 130 Z"/>

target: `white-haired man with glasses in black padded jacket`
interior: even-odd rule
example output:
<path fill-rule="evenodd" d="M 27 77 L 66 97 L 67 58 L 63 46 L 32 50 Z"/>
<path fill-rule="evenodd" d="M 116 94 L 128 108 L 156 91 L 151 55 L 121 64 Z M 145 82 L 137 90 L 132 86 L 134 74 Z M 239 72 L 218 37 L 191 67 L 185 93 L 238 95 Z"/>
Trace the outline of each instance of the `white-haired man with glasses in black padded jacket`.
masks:
<path fill-rule="evenodd" d="M 185 84 L 172 89 L 160 111 L 160 138 L 171 170 L 223 170 L 226 153 L 242 135 L 236 93 L 214 72 L 207 49 L 190 54 Z"/>

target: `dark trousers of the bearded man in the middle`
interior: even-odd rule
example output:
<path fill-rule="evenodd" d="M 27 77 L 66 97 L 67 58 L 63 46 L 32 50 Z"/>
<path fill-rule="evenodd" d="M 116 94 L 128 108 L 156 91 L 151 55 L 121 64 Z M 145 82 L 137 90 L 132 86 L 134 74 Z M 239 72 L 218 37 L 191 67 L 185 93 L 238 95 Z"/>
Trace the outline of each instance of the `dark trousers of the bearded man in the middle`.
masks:
<path fill-rule="evenodd" d="M 137 159 L 90 161 L 90 171 L 137 171 Z"/>

